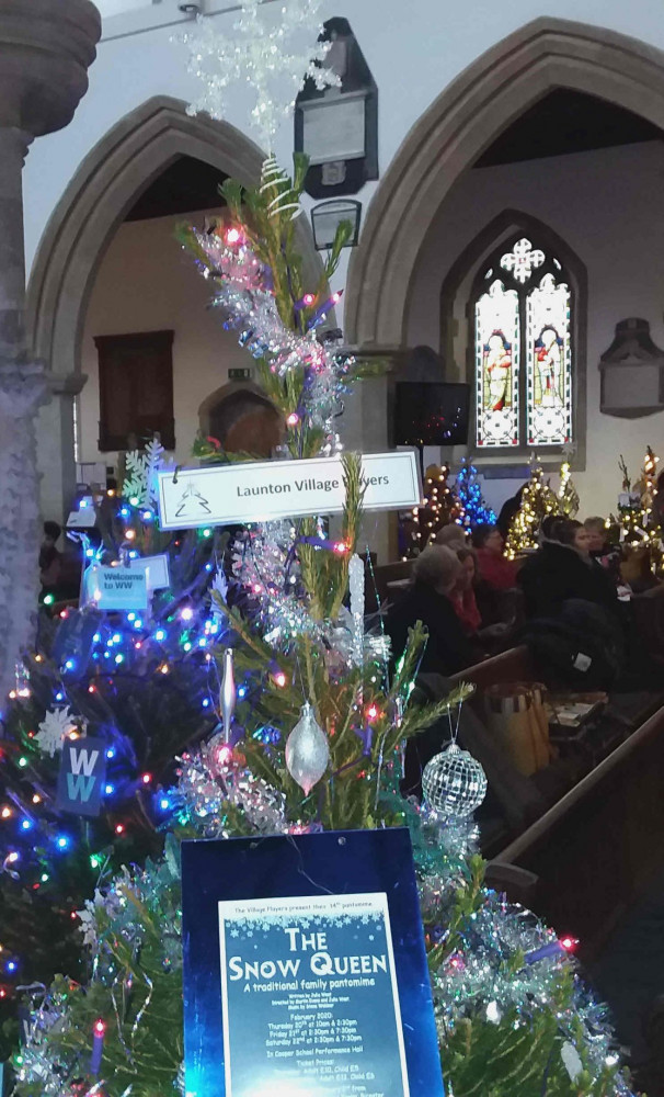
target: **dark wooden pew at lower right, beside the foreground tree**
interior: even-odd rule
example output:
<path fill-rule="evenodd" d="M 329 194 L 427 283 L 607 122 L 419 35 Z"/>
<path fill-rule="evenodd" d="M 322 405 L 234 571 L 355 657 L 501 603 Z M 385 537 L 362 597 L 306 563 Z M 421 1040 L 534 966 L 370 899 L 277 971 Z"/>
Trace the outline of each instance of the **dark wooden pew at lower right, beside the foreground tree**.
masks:
<path fill-rule="evenodd" d="M 503 849 L 490 882 L 592 959 L 664 868 L 663 791 L 664 708 Z"/>

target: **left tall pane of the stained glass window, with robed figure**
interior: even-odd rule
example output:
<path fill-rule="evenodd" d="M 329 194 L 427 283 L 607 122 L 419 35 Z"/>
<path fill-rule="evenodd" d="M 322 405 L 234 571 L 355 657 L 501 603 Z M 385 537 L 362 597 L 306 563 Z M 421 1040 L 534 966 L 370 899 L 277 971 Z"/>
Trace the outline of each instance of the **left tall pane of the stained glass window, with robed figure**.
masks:
<path fill-rule="evenodd" d="M 518 443 L 518 294 L 493 282 L 476 305 L 477 442 Z"/>

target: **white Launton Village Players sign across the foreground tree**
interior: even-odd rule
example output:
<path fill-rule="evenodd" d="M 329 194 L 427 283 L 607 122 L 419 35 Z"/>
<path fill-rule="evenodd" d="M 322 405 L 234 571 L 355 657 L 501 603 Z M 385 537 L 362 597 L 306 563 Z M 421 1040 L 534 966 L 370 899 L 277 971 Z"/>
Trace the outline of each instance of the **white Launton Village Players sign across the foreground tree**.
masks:
<path fill-rule="evenodd" d="M 403 510 L 421 499 L 414 450 L 364 453 L 365 510 Z M 158 473 L 162 530 L 339 514 L 345 491 L 341 457 L 247 461 Z"/>

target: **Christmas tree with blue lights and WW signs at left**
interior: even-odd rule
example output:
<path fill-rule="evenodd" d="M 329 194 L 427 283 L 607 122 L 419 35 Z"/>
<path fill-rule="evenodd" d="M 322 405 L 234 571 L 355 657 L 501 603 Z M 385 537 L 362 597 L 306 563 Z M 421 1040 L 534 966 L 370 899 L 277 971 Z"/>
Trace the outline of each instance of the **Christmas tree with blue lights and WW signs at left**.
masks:
<path fill-rule="evenodd" d="M 84 974 L 96 889 L 124 863 L 161 852 L 174 756 L 217 722 L 213 653 L 225 622 L 210 589 L 221 539 L 207 528 L 175 538 L 158 530 L 160 460 L 156 443 L 130 453 L 119 497 L 98 501 L 95 530 L 80 538 L 82 603 L 53 619 L 42 612 L 4 706 L 4 1017 L 15 1017 L 18 985 Z M 112 609 L 100 583 L 108 572 L 119 591 Z"/>

